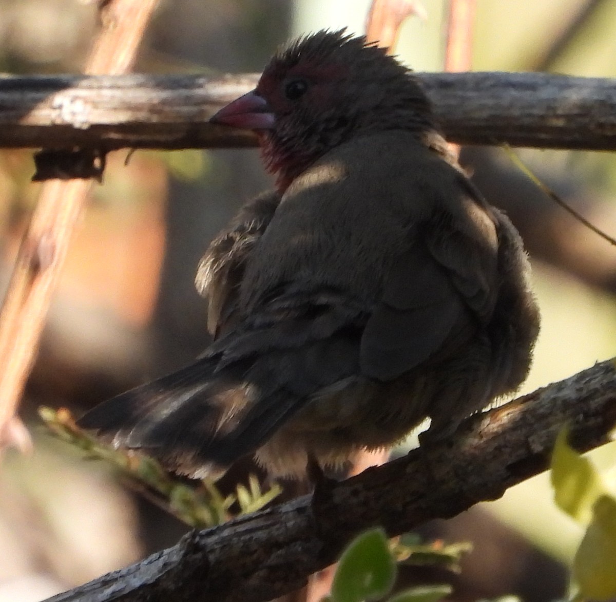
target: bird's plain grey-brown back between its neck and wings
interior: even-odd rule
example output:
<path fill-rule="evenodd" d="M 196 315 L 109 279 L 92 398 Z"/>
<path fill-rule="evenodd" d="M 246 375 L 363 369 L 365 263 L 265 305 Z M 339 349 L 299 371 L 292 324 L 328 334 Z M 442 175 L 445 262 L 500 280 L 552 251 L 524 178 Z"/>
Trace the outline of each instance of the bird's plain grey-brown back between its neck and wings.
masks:
<path fill-rule="evenodd" d="M 463 215 L 459 177 L 406 131 L 358 136 L 326 153 L 286 190 L 247 262 L 246 314 L 289 287 L 333 287 L 371 309 L 416 229 L 439 209 Z M 494 226 L 486 236 L 494 239 Z"/>

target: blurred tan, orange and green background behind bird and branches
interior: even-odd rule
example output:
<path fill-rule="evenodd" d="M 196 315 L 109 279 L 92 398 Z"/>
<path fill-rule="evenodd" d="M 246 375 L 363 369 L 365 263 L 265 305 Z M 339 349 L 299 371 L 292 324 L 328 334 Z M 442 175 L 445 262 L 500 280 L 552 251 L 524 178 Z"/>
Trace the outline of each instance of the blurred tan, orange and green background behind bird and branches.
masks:
<path fill-rule="evenodd" d="M 278 44 L 323 27 L 363 33 L 368 0 L 166 0 L 136 70 L 259 71 Z M 442 69 L 444 0 L 424 0 L 397 54 L 418 71 Z M 94 3 L 0 0 L 0 70 L 81 70 L 97 25 Z M 544 70 L 616 76 L 613 0 L 477 0 L 474 70 Z M 535 173 L 597 226 L 616 235 L 616 156 L 519 151 Z M 47 436 L 39 405 L 75 413 L 193 359 L 208 344 L 206 305 L 193 286 L 209 240 L 234 211 L 270 185 L 257 150 L 113 153 L 73 240 L 22 416 L 31 457 L 0 470 L 0 602 L 36 601 L 175 543 L 187 527 L 123 490 L 102 463 L 84 462 Z M 484 195 L 505 208 L 532 256 L 543 314 L 525 390 L 616 355 L 616 250 L 574 221 L 500 149 L 464 148 Z M 39 185 L 32 153 L 0 151 L 0 290 Z M 2 292 L 2 294 L 4 294 Z M 614 447 L 592 454 L 610 477 Z M 582 535 L 532 479 L 498 502 L 422 529 L 469 540 L 455 598 L 508 593 L 562 596 Z M 440 576 L 408 576 L 440 579 Z"/>

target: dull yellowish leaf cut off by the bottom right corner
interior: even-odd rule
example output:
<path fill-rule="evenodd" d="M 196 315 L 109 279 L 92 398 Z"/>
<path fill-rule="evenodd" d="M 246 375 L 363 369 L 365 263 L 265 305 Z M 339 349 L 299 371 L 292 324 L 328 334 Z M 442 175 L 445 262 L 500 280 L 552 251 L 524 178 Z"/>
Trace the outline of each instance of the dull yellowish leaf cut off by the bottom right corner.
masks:
<path fill-rule="evenodd" d="M 616 500 L 610 495 L 594 504 L 593 521 L 573 559 L 573 579 L 582 598 L 616 597 Z"/>

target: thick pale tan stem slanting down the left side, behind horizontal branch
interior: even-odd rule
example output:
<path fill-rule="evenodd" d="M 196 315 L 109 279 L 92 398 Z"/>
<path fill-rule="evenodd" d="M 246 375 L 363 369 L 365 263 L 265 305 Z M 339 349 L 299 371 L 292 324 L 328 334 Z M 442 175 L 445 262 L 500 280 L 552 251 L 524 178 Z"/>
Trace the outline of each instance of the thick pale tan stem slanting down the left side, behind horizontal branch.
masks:
<path fill-rule="evenodd" d="M 156 4 L 157 0 L 108 2 L 101 9 L 103 26 L 86 73 L 126 73 Z M 20 440 L 23 446 L 25 429 L 16 422 L 15 412 L 90 187 L 91 181 L 84 179 L 54 179 L 44 184 L 23 236 L 0 312 L 0 449 Z M 21 439 L 15 433 L 21 433 Z"/>

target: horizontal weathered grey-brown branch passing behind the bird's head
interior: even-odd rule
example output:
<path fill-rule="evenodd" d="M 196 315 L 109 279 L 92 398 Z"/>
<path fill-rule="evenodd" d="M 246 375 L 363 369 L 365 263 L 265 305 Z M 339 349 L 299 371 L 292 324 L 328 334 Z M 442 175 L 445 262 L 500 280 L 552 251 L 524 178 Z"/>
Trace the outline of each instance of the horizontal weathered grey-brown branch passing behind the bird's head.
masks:
<path fill-rule="evenodd" d="M 616 79 L 547 73 L 419 73 L 459 144 L 616 149 Z M 215 148 L 256 145 L 207 123 L 257 74 L 0 78 L 0 147 Z"/>

